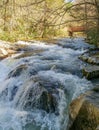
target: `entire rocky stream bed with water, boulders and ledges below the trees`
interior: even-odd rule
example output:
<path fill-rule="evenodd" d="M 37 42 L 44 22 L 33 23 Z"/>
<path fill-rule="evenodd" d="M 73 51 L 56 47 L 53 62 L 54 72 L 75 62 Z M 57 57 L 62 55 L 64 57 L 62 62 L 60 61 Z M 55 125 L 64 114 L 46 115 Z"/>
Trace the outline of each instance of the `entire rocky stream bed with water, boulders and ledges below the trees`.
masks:
<path fill-rule="evenodd" d="M 99 49 L 83 38 L 0 41 L 0 130 L 99 130 Z"/>

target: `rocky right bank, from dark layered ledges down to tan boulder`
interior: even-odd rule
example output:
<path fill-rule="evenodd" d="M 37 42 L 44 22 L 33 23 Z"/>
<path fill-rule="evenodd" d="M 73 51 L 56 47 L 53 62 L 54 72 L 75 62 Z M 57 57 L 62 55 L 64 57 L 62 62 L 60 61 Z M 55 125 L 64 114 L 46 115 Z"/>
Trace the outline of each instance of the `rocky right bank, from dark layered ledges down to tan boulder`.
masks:
<path fill-rule="evenodd" d="M 83 76 L 94 88 L 70 104 L 70 130 L 99 130 L 99 49 L 90 49 L 79 58 L 85 62 Z"/>

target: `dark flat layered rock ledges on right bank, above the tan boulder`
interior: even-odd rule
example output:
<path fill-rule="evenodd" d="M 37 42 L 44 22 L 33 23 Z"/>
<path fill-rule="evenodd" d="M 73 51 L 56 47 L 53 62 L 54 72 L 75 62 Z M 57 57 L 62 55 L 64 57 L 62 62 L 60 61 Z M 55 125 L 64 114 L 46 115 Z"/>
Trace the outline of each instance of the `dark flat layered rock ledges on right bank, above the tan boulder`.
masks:
<path fill-rule="evenodd" d="M 83 67 L 83 75 L 87 79 L 99 77 L 99 48 L 91 49 L 80 56 L 86 65 Z"/>

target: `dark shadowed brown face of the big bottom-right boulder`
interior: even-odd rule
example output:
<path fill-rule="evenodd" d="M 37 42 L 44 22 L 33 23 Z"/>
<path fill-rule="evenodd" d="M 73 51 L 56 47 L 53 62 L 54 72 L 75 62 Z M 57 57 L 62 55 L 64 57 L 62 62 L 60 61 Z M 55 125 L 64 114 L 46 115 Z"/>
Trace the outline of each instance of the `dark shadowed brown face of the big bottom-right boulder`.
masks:
<path fill-rule="evenodd" d="M 85 101 L 70 130 L 96 130 L 99 125 L 99 108 Z"/>

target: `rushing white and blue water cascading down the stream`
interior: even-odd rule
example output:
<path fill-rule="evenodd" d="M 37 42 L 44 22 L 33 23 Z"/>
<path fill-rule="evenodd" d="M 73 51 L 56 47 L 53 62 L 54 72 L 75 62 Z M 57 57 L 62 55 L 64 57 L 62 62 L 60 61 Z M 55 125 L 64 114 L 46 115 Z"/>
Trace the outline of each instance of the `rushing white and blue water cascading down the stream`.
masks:
<path fill-rule="evenodd" d="M 78 58 L 90 46 L 83 39 L 16 44 L 27 50 L 0 61 L 0 130 L 66 130 L 70 102 L 92 87 Z"/>

